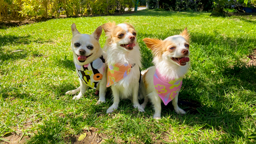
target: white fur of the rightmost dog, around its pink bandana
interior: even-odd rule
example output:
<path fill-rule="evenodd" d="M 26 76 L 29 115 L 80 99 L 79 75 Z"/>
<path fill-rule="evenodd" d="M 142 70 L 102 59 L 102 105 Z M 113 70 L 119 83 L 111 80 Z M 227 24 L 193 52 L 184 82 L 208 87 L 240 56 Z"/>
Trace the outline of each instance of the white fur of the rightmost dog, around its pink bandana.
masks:
<path fill-rule="evenodd" d="M 171 80 L 173 78 L 183 77 L 190 67 L 190 62 L 186 62 L 186 65 L 181 66 L 177 62 L 171 60 L 171 57 L 181 58 L 181 57 L 188 57 L 190 55 L 190 53 L 188 53 L 187 55 L 184 56 L 181 52 L 182 49 L 185 48 L 184 43 L 187 43 L 186 40 L 183 38 L 183 36 L 180 36 L 180 35 L 170 36 L 166 38 L 164 41 L 171 41 L 172 43 L 175 43 L 175 45 L 177 46 L 175 51 L 173 51 L 171 54 L 168 52 L 164 52 L 161 55 L 161 57 L 154 57 L 153 62 L 155 66 L 149 67 L 147 70 L 142 71 L 142 74 L 143 74 L 142 83 L 140 84 L 140 90 L 141 90 L 140 94 L 145 96 L 145 101 L 142 104 L 142 107 L 145 108 L 149 98 L 155 109 L 155 114 L 153 118 L 157 120 L 161 119 L 162 100 L 156 93 L 154 83 L 153 83 L 153 75 L 156 68 L 158 69 L 158 72 L 161 75 L 165 76 L 166 79 Z M 172 100 L 172 105 L 176 113 L 178 114 L 186 113 L 183 109 L 178 107 L 178 95 L 175 96 L 175 98 Z"/>

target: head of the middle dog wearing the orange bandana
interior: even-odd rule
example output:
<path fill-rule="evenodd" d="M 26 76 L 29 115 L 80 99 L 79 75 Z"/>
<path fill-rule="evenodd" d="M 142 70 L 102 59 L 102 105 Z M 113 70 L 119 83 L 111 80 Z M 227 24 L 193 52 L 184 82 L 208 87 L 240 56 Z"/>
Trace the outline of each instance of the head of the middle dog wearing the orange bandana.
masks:
<path fill-rule="evenodd" d="M 116 45 L 122 50 L 133 50 L 136 43 L 136 31 L 130 24 L 106 23 L 101 25 L 107 38 L 107 43 Z"/>

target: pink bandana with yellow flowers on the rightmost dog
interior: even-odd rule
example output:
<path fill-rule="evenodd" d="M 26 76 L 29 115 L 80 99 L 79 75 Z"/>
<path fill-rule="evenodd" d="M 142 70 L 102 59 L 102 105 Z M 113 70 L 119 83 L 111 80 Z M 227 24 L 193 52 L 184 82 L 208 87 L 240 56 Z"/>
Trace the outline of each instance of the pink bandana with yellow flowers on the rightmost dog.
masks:
<path fill-rule="evenodd" d="M 158 72 L 158 69 L 156 69 L 154 73 L 154 86 L 158 96 L 162 99 L 164 104 L 167 105 L 179 94 L 182 87 L 182 77 L 168 81 Z"/>

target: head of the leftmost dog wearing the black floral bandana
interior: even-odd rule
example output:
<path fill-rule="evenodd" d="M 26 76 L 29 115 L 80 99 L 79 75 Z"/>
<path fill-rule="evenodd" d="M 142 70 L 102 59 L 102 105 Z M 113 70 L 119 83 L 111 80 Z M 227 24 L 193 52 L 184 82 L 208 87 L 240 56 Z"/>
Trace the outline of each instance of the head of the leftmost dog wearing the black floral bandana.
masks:
<path fill-rule="evenodd" d="M 90 63 L 101 55 L 100 50 L 102 51 L 102 49 L 98 42 L 102 33 L 100 26 L 91 35 L 80 34 L 75 24 L 72 24 L 71 29 L 73 35 L 71 48 L 75 63 Z"/>

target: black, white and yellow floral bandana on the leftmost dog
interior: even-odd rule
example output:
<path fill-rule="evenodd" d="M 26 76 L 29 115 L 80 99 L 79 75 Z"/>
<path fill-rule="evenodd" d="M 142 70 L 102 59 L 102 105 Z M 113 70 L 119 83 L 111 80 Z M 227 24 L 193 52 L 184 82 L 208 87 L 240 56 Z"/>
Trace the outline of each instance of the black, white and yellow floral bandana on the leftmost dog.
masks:
<path fill-rule="evenodd" d="M 101 56 L 89 64 L 82 66 L 75 64 L 75 67 L 79 79 L 91 88 L 96 89 L 103 77 L 105 59 Z"/>

